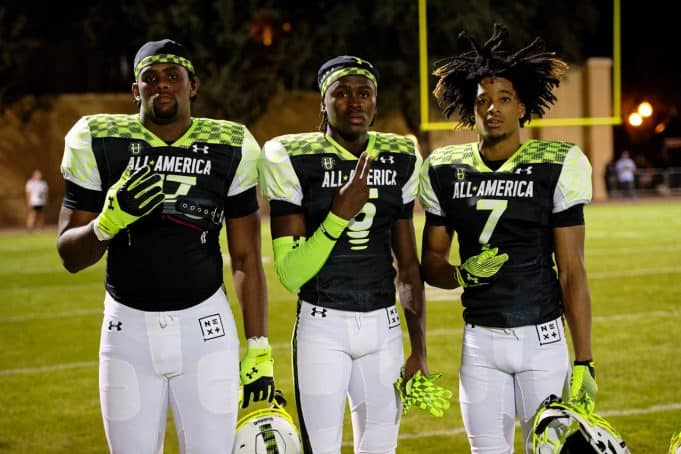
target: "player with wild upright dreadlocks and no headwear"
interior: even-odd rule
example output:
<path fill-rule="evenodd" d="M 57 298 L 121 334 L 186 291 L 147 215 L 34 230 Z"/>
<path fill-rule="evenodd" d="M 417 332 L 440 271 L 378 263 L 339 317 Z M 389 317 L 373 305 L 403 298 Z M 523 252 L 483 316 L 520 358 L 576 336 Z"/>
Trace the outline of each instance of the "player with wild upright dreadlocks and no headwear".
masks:
<path fill-rule="evenodd" d="M 584 266 L 591 166 L 575 144 L 520 140 L 520 128 L 555 101 L 567 65 L 539 38 L 507 51 L 507 36 L 497 25 L 479 44 L 464 32 L 472 50 L 436 68 L 438 104 L 479 141 L 434 150 L 420 180 L 424 279 L 463 288 L 459 403 L 474 453 L 513 452 L 516 417 L 530 452 L 546 397 L 567 381 L 565 400 L 591 412 L 597 390 Z M 449 262 L 454 234 L 461 265 Z M 564 319 L 575 355 L 569 380 Z"/>

